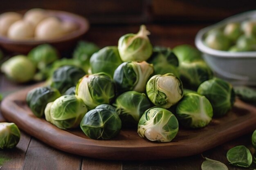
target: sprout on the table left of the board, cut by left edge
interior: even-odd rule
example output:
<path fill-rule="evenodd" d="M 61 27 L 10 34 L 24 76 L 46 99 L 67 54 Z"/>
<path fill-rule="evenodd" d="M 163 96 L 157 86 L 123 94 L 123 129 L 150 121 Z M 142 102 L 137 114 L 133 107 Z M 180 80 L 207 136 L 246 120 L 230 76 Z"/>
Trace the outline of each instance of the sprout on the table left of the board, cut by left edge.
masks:
<path fill-rule="evenodd" d="M 0 149 L 14 148 L 20 141 L 20 130 L 14 123 L 0 123 Z"/>

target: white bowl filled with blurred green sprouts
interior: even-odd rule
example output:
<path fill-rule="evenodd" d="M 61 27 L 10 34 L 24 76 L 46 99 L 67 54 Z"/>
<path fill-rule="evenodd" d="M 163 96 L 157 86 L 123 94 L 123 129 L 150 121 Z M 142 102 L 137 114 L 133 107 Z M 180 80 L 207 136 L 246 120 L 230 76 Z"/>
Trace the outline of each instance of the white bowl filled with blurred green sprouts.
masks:
<path fill-rule="evenodd" d="M 256 11 L 201 29 L 195 45 L 218 77 L 233 85 L 256 85 Z"/>

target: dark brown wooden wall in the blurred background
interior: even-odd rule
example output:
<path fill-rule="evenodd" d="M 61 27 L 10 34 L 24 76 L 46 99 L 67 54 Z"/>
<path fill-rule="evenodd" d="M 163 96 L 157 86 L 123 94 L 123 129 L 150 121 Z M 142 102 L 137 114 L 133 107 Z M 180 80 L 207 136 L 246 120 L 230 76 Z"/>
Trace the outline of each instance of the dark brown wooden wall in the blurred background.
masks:
<path fill-rule="evenodd" d="M 92 24 L 216 22 L 255 10 L 256 0 L 0 0 L 0 13 L 31 8 L 70 11 Z"/>

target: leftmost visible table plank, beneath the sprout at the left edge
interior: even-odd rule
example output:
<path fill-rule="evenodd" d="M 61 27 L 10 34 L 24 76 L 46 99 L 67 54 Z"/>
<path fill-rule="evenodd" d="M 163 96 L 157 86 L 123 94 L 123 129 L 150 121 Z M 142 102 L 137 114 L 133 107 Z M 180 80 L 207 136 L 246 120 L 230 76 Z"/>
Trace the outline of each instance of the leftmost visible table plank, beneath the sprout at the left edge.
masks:
<path fill-rule="evenodd" d="M 8 159 L 1 170 L 23 170 L 23 162 L 31 137 L 24 132 L 20 134 L 20 141 L 16 148 L 10 150 L 0 150 L 0 158 Z"/>

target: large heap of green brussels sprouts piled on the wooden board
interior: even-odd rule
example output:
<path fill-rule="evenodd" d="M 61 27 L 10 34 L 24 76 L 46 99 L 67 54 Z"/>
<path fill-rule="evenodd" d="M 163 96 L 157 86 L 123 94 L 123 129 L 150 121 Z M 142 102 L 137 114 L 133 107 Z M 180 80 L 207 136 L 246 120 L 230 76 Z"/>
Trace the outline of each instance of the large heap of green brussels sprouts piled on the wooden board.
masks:
<path fill-rule="evenodd" d="M 213 77 L 201 53 L 189 45 L 153 47 L 149 34 L 142 25 L 100 50 L 80 42 L 74 58 L 81 65 L 59 64 L 47 86 L 29 91 L 31 111 L 61 129 L 80 126 L 91 139 L 130 128 L 158 142 L 172 141 L 179 126 L 203 128 L 226 115 L 233 88 Z"/>

